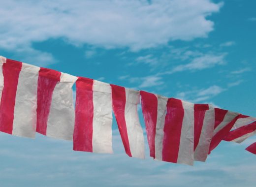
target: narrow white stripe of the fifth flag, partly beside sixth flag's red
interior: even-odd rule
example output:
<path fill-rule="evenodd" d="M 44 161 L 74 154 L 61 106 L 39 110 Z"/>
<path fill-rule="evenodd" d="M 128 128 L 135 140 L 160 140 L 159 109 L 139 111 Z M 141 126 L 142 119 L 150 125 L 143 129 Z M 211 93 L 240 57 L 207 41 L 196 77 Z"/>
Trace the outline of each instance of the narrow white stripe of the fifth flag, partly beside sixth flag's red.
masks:
<path fill-rule="evenodd" d="M 163 141 L 163 126 L 166 115 L 166 104 L 168 101 L 167 97 L 158 97 L 158 116 L 157 116 L 157 125 L 156 125 L 156 137 L 155 137 L 155 156 L 156 160 L 162 160 L 162 141 Z"/>

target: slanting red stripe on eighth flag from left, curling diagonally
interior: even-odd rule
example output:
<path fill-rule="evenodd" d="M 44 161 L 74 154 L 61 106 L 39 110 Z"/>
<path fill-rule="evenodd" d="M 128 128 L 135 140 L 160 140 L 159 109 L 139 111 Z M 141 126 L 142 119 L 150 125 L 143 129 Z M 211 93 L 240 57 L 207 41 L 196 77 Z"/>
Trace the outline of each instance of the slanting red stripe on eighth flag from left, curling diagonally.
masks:
<path fill-rule="evenodd" d="M 211 141 L 210 148 L 209 148 L 209 153 L 211 153 L 212 150 L 214 150 L 220 143 L 221 141 L 227 136 L 237 119 L 239 118 L 239 115 L 236 116 L 230 123 L 225 125 L 219 132 L 217 132 Z"/>

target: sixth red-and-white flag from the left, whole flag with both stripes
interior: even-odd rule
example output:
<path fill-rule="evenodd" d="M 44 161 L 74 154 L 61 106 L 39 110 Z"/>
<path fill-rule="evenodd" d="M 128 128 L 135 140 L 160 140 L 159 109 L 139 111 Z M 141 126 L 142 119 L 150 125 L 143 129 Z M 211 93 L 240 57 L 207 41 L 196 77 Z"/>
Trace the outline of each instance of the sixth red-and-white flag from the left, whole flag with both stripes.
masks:
<path fill-rule="evenodd" d="M 163 131 L 162 160 L 193 165 L 194 104 L 169 98 Z"/>

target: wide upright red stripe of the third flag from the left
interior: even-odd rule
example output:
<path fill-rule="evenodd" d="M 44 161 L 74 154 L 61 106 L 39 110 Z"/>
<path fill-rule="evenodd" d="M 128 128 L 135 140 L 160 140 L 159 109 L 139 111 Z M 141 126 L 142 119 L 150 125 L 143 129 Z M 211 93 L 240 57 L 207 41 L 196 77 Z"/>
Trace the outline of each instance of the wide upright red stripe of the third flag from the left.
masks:
<path fill-rule="evenodd" d="M 75 127 L 73 150 L 93 152 L 93 84 L 94 80 L 78 77 L 76 81 Z"/>

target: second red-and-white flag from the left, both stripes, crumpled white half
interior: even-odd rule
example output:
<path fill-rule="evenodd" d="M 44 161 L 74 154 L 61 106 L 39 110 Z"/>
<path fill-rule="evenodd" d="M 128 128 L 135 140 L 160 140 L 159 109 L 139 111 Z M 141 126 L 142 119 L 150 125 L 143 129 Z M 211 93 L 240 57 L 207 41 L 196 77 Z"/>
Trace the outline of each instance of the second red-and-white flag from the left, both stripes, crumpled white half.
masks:
<path fill-rule="evenodd" d="M 37 85 L 36 132 L 72 140 L 74 106 L 72 86 L 77 77 L 47 68 L 40 68 Z"/>

